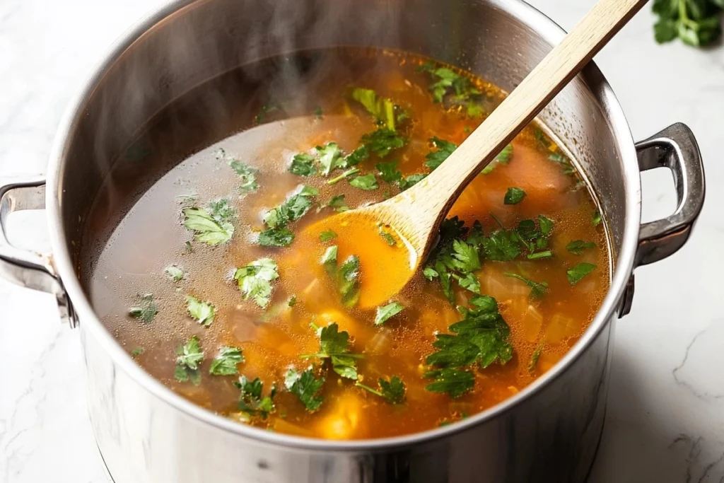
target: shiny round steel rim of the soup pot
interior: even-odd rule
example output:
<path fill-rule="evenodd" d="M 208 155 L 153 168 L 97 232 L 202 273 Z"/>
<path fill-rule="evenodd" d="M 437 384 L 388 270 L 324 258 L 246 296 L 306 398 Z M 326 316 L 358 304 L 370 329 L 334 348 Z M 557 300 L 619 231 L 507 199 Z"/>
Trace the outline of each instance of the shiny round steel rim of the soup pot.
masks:
<path fill-rule="evenodd" d="M 211 0 L 202 0 L 211 1 Z M 498 9 L 505 10 L 516 20 L 524 25 L 535 26 L 536 33 L 541 35 L 544 40 L 549 43 L 559 43 L 565 31 L 560 28 L 553 20 L 545 14 L 527 4 L 523 0 L 488 0 L 490 4 Z M 140 20 L 132 28 L 128 29 L 109 49 L 104 59 L 99 62 L 93 72 L 87 77 L 87 81 L 83 88 L 78 91 L 75 98 L 72 99 L 67 107 L 64 116 L 59 124 L 48 164 L 48 178 L 46 188 L 46 206 L 48 213 L 48 224 L 50 231 L 50 241 L 52 253 L 54 256 L 54 265 L 56 267 L 62 283 L 67 290 L 70 300 L 75 311 L 80 316 L 83 329 L 89 329 L 93 337 L 96 337 L 98 343 L 104 347 L 111 358 L 119 367 L 125 371 L 129 377 L 138 382 L 145 390 L 151 392 L 165 403 L 174 407 L 178 411 L 185 413 L 193 419 L 210 424 L 214 427 L 238 435 L 246 437 L 256 442 L 268 445 L 282 445 L 287 448 L 295 448 L 298 450 L 320 450 L 320 451 L 379 451 L 389 448 L 402 448 L 411 445 L 418 445 L 424 442 L 430 442 L 442 437 L 449 437 L 452 434 L 464 432 L 478 424 L 490 421 L 503 413 L 510 411 L 518 404 L 530 398 L 536 392 L 554 379 L 560 377 L 573 364 L 576 359 L 581 356 L 586 348 L 591 345 L 598 337 L 602 329 L 610 322 L 618 309 L 620 298 L 623 295 L 628 282 L 628 277 L 633 271 L 636 247 L 638 245 L 639 225 L 641 222 L 641 182 L 639 177 L 639 165 L 636 159 L 636 150 L 631 138 L 631 131 L 628 122 L 623 114 L 623 110 L 618 104 L 610 85 L 608 85 L 602 72 L 598 69 L 594 62 L 584 68 L 578 76 L 582 76 L 589 87 L 592 95 L 601 104 L 603 110 L 607 113 L 607 122 L 613 131 L 615 138 L 620 143 L 621 162 L 623 164 L 623 175 L 625 180 L 626 193 L 626 219 L 623 232 L 623 240 L 621 249 L 618 253 L 618 259 L 614 266 L 614 276 L 611 280 L 610 288 L 607 295 L 594 316 L 593 322 L 590 324 L 584 335 L 573 345 L 573 348 L 558 361 L 549 371 L 541 377 L 525 387 L 521 392 L 507 400 L 498 403 L 481 413 L 477 413 L 462 421 L 454 424 L 435 429 L 429 429 L 424 432 L 406 434 L 403 436 L 385 437 L 368 440 L 321 440 L 308 437 L 292 436 L 289 434 L 280 434 L 276 432 L 265 431 L 256 427 L 245 424 L 239 424 L 235 421 L 220 416 L 201 406 L 191 403 L 189 400 L 182 398 L 158 380 L 151 377 L 144 371 L 131 356 L 117 343 L 117 340 L 106 329 L 104 324 L 98 319 L 93 308 L 90 306 L 88 298 L 85 296 L 83 287 L 77 277 L 68 244 L 64 236 L 62 226 L 61 204 L 64 187 L 62 182 L 62 174 L 66 168 L 66 154 L 70 148 L 70 139 L 75 131 L 80 119 L 82 119 L 85 111 L 85 102 L 93 94 L 98 83 L 106 75 L 107 70 L 122 55 L 122 53 L 141 36 L 143 36 L 153 25 L 161 20 L 176 14 L 181 9 L 189 7 L 196 3 L 195 0 L 174 1 L 155 12 L 148 14 L 143 20 Z M 531 27 L 532 28 L 532 27 Z"/>

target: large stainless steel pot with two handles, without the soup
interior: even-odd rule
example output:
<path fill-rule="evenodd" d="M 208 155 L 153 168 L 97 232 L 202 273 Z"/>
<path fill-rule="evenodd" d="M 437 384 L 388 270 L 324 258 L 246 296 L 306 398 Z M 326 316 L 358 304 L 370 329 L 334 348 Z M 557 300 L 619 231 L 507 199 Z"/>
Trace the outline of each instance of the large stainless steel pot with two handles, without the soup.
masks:
<path fill-rule="evenodd" d="M 84 217 L 110 160 L 162 106 L 221 72 L 292 49 L 384 46 L 459 64 L 510 91 L 562 37 L 557 25 L 519 0 L 186 0 L 130 30 L 68 109 L 47 185 L 42 177 L 0 180 L 0 225 L 11 211 L 46 206 L 53 253 L 18 250 L 0 230 L 0 274 L 54 293 L 62 318 L 79 324 L 90 418 L 112 478 L 584 481 L 605 417 L 613 321 L 631 306 L 633 269 L 677 251 L 704 202 L 702 162 L 689 129 L 673 125 L 634 145 L 594 64 L 541 118 L 580 161 L 602 204 L 615 253 L 610 291 L 557 366 L 505 403 L 457 424 L 405 437 L 331 442 L 216 416 L 136 366 L 93 313 L 76 269 Z M 639 172 L 655 167 L 673 172 L 678 207 L 666 219 L 641 225 Z"/>

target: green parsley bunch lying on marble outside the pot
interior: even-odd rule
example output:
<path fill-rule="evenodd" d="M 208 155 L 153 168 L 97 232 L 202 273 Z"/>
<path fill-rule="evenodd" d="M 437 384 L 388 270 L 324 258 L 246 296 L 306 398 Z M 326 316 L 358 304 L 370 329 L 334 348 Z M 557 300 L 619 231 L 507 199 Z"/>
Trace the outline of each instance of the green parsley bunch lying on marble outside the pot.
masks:
<path fill-rule="evenodd" d="M 710 45 L 721 35 L 722 9 L 722 0 L 655 0 L 653 11 L 659 20 L 654 25 L 654 38 L 658 43 L 678 37 L 690 46 Z"/>

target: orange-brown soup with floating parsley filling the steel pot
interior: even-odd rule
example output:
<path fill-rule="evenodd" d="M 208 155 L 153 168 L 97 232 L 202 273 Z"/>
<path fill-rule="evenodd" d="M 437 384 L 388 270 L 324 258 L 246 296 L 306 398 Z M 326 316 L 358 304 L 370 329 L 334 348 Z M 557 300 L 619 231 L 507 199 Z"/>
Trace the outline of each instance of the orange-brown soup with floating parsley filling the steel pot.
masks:
<path fill-rule="evenodd" d="M 96 313 L 174 392 L 276 432 L 390 437 L 510 398 L 608 289 L 605 226 L 563 146 L 526 127 L 376 306 L 409 269 L 405 240 L 328 224 L 445 169 L 503 96 L 429 59 L 351 48 L 199 86 L 139 133 L 96 199 L 82 267 Z M 389 276 L 371 280 L 360 259 Z"/>

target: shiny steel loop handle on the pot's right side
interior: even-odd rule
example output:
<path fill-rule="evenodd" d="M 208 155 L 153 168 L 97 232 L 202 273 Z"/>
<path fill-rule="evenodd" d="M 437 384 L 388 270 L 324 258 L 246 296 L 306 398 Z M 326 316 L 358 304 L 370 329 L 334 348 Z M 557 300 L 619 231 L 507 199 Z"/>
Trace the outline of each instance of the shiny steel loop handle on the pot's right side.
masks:
<path fill-rule="evenodd" d="M 699 145 L 688 126 L 678 122 L 636 143 L 639 169 L 671 170 L 678 204 L 669 217 L 644 223 L 639 230 L 635 266 L 665 259 L 686 243 L 704 206 L 704 165 Z"/>

